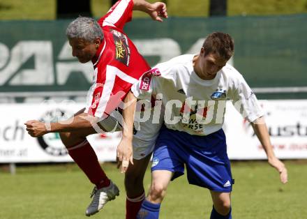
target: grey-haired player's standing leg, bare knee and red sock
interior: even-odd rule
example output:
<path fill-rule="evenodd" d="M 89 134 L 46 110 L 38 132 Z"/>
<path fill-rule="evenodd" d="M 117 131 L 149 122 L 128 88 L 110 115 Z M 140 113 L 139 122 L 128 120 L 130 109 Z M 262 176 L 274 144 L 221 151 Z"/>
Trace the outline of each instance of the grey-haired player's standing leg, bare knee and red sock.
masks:
<path fill-rule="evenodd" d="M 126 188 L 126 219 L 135 219 L 145 199 L 143 179 L 151 153 L 140 160 L 133 159 L 133 165 L 129 165 L 125 173 Z"/>

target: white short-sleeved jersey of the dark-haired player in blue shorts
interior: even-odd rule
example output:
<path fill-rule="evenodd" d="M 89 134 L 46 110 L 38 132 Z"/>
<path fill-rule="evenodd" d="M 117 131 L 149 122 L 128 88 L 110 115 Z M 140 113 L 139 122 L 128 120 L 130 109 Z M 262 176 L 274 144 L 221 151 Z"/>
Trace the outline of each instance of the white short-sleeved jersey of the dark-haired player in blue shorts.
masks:
<path fill-rule="evenodd" d="M 226 100 L 248 119 L 263 115 L 255 94 L 242 75 L 226 64 L 213 80 L 202 80 L 193 69 L 188 54 L 159 63 L 134 84 L 138 99 L 159 96 L 165 107 L 165 126 L 190 135 L 209 135 L 223 126 Z"/>

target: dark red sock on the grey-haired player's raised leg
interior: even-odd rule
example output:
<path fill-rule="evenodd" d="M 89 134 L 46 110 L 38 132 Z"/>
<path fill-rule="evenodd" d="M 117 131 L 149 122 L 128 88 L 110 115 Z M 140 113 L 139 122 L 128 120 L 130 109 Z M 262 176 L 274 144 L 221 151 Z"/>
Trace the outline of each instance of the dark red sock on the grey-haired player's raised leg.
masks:
<path fill-rule="evenodd" d="M 69 148 L 68 153 L 98 189 L 110 185 L 110 179 L 100 167 L 96 153 L 87 139 Z"/>

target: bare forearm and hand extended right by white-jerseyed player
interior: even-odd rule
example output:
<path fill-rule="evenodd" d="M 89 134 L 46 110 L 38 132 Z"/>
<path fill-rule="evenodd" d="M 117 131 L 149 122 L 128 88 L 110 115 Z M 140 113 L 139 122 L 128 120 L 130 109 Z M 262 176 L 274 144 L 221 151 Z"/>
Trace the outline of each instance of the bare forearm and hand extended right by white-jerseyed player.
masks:
<path fill-rule="evenodd" d="M 278 158 L 276 158 L 274 154 L 273 146 L 271 145 L 269 137 L 269 132 L 267 130 L 267 125 L 263 117 L 260 117 L 255 121 L 253 121 L 252 126 L 255 131 L 255 134 L 257 135 L 258 139 L 260 140 L 263 146 L 265 153 L 267 153 L 269 164 L 279 172 L 280 181 L 282 183 L 287 183 L 287 169 L 283 164 L 283 162 L 281 162 Z"/>

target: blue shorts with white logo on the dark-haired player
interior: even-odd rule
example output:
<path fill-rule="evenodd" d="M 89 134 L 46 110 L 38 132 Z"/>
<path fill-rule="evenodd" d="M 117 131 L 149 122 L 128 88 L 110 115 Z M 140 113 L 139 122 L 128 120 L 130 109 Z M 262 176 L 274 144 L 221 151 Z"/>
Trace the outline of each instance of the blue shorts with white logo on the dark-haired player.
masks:
<path fill-rule="evenodd" d="M 234 180 L 223 129 L 198 136 L 163 126 L 153 150 L 151 171 L 174 172 L 173 180 L 184 174 L 184 164 L 190 184 L 216 192 L 231 192 Z"/>

